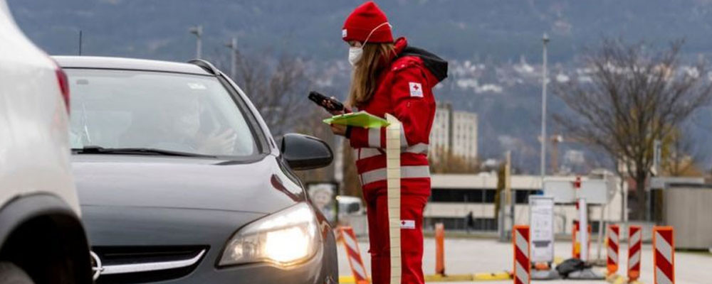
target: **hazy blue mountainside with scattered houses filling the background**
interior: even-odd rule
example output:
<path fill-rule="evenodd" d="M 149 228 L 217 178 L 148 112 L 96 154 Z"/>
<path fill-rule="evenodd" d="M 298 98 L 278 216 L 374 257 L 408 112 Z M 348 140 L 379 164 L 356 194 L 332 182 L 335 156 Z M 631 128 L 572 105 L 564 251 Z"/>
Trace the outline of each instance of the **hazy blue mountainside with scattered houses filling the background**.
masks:
<path fill-rule="evenodd" d="M 343 97 L 349 67 L 340 40 L 357 0 L 9 0 L 21 29 L 52 55 L 124 56 L 185 61 L 194 57 L 191 26 L 204 28 L 206 57 L 227 53 L 230 38 L 246 54 L 289 54 L 312 62 L 319 86 Z M 392 0 L 377 1 L 394 34 L 451 62 L 436 90 L 441 102 L 479 116 L 482 158 L 513 150 L 515 167 L 538 172 L 542 35 L 548 33 L 550 80 L 577 72 L 580 57 L 601 39 L 644 41 L 665 48 L 684 39 L 686 60 L 712 55 L 712 0 Z M 551 97 L 551 110 L 564 109 Z M 702 166 L 712 165 L 712 108 L 686 126 Z M 551 122 L 550 133 L 557 132 Z M 560 133 L 565 136 L 565 133 Z M 587 163 L 607 163 L 585 146 Z"/>

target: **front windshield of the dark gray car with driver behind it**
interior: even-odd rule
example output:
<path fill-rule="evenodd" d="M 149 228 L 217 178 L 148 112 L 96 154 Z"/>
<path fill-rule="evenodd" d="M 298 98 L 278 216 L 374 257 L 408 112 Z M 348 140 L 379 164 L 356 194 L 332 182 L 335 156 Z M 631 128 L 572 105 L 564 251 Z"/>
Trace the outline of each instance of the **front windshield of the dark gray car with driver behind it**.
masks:
<path fill-rule="evenodd" d="M 245 114 L 215 77 L 67 69 L 73 149 L 148 148 L 216 156 L 257 152 Z"/>

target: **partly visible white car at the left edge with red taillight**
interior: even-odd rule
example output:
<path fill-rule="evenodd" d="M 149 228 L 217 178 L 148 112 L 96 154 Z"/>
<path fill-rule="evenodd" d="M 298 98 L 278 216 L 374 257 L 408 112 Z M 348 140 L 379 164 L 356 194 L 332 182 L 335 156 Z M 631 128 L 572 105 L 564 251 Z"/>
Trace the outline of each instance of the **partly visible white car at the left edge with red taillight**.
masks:
<path fill-rule="evenodd" d="M 91 283 L 67 77 L 0 0 L 0 283 Z"/>

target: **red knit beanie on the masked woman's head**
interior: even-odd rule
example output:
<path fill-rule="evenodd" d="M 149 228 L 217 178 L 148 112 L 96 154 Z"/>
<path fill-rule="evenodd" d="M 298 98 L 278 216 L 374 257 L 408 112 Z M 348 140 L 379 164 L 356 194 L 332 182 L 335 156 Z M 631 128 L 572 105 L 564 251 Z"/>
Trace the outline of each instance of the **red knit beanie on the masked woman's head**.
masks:
<path fill-rule="evenodd" d="M 370 38 L 369 33 L 371 33 Z M 357 40 L 362 43 L 366 38 L 369 43 L 393 42 L 391 26 L 388 24 L 386 14 L 373 1 L 368 1 L 351 12 L 344 22 L 341 37 L 345 41 Z"/>

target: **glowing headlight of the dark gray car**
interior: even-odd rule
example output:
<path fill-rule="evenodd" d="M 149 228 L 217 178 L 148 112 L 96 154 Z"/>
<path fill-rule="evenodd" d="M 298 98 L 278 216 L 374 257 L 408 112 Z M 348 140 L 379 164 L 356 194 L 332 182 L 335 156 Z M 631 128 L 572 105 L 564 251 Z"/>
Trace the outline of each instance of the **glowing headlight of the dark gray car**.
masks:
<path fill-rule="evenodd" d="M 237 231 L 219 266 L 254 262 L 288 266 L 313 256 L 319 241 L 314 212 L 308 204 L 300 203 Z"/>

